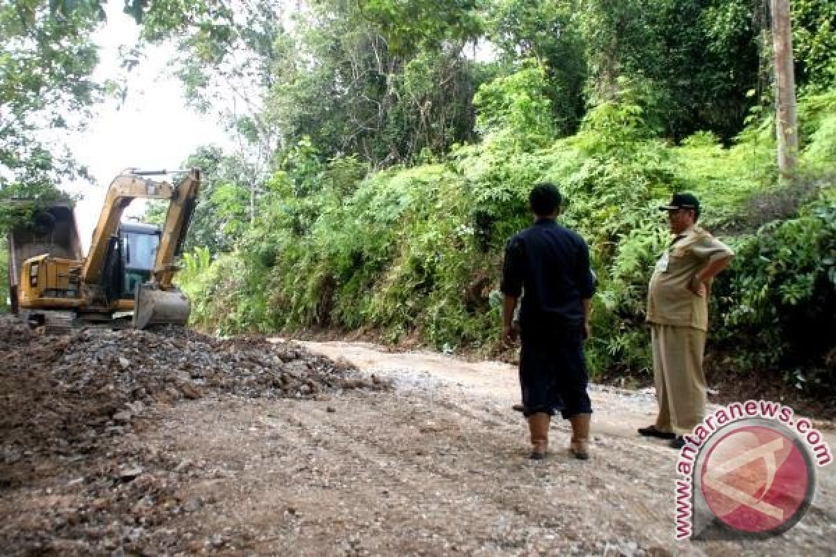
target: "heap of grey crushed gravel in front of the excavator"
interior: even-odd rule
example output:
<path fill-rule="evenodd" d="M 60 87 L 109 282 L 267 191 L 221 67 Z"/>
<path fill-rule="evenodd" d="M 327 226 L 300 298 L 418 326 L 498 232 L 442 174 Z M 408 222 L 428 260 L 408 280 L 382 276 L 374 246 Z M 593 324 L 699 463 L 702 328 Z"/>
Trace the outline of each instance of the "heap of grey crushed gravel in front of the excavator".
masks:
<path fill-rule="evenodd" d="M 113 387 L 144 403 L 198 398 L 205 391 L 311 397 L 357 386 L 348 377 L 352 371 L 350 364 L 314 356 L 287 342 L 217 340 L 179 327 L 154 332 L 86 329 L 69 339 L 53 367 L 69 391 Z"/>

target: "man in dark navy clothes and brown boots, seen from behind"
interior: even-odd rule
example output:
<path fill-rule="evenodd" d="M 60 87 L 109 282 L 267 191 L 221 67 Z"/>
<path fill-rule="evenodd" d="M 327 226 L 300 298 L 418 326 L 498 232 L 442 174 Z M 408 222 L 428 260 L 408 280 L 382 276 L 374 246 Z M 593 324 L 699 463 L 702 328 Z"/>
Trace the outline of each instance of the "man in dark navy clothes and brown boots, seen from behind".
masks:
<path fill-rule="evenodd" d="M 549 422 L 559 410 L 572 424 L 569 450 L 585 460 L 592 406 L 584 339 L 589 337 L 589 302 L 595 289 L 589 247 L 576 232 L 554 221 L 561 204 L 555 185 L 535 185 L 528 202 L 536 220 L 514 235 L 505 250 L 502 342 L 516 340 L 512 317 L 524 290 L 519 377 L 531 458 L 545 457 Z"/>

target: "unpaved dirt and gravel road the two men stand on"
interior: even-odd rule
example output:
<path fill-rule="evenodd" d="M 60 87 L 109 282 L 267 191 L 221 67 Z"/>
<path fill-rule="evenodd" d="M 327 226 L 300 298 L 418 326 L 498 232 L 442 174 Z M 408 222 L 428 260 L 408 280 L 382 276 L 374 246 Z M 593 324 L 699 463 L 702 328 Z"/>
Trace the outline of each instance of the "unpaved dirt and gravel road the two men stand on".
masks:
<path fill-rule="evenodd" d="M 3 491 L 2 534 L 20 544 L 7 552 L 833 554 L 836 466 L 819 470 L 813 507 L 780 538 L 675 542 L 675 451 L 635 435 L 653 417 L 650 393 L 594 387 L 592 459 L 569 457 L 568 428 L 558 422 L 555 450 L 533 462 L 523 419 L 510 409 L 517 399 L 512 367 L 363 343 L 304 344 L 388 377 L 395 389 L 315 400 L 220 394 L 155 408 L 105 455 L 143 468 L 113 489 L 113 499 L 130 503 L 128 519 L 85 530 L 84 539 L 62 538 L 66 529 L 50 526 L 57 537 L 33 552 L 8 530 L 37 530 L 30 523 L 47 509 L 77 524 L 106 504 L 83 488 L 104 461 L 42 473 Z M 832 433 L 827 439 L 836 447 Z"/>

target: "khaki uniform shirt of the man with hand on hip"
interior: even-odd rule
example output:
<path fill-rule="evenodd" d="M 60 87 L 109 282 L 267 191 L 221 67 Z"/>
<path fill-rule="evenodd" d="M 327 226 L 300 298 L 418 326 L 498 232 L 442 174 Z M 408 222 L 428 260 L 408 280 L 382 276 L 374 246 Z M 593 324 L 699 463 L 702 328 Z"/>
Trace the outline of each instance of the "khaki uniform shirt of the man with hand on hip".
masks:
<path fill-rule="evenodd" d="M 647 321 L 706 331 L 707 296 L 697 296 L 688 285 L 709 261 L 733 255 L 728 246 L 699 226 L 676 236 L 650 277 Z"/>

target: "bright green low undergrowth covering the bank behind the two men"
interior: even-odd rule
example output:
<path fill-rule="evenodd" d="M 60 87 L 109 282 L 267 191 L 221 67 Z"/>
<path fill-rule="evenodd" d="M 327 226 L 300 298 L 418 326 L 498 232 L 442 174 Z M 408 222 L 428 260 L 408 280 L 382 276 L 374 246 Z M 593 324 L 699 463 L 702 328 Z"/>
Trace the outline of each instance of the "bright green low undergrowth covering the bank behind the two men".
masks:
<path fill-rule="evenodd" d="M 526 71 L 517 78 L 538 75 Z M 503 88 L 486 86 L 480 101 L 498 112 L 482 115 L 495 139 L 508 126 L 523 133 L 514 111 L 528 106 L 503 97 Z M 300 148 L 268 180 L 237 250 L 211 262 L 194 254 L 181 281 L 196 322 L 221 332 L 332 327 L 375 330 L 390 342 L 417 337 L 444 350 L 492 347 L 503 247 L 531 222 L 531 185 L 550 180 L 566 200 L 562 222 L 589 241 L 599 276 L 591 371 L 646 380 L 647 284 L 670 240 L 656 206 L 691 190 L 705 205 L 701 224 L 737 249 L 716 281 L 710 347 L 738 347 L 747 368 L 821 368 L 832 341 L 815 343 L 812 332 L 832 331 L 836 315 L 827 174 L 836 121 L 823 109 L 831 101 L 799 106 L 818 114 L 818 124 L 804 131 L 808 178 L 792 190 L 776 186 L 767 120 L 753 119 L 729 148 L 708 133 L 671 146 L 656 139 L 629 90 L 590 111 L 573 137 L 543 144 L 538 129 L 533 142 L 458 146 L 440 164 L 367 175 L 356 160 L 314 164 Z"/>

